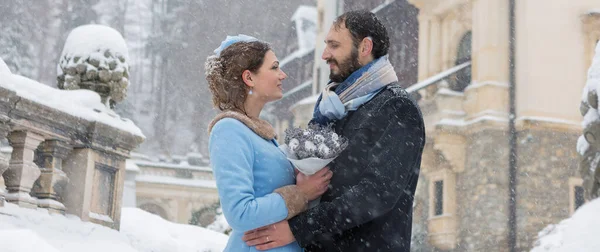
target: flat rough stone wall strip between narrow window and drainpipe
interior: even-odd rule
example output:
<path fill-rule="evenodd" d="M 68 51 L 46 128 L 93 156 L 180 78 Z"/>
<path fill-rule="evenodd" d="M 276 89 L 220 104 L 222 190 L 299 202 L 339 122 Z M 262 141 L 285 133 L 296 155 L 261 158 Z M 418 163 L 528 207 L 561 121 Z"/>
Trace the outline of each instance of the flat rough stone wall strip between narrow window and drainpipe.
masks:
<path fill-rule="evenodd" d="M 508 251 L 508 135 L 468 137 L 465 171 L 456 180 L 459 241 L 455 251 Z"/>

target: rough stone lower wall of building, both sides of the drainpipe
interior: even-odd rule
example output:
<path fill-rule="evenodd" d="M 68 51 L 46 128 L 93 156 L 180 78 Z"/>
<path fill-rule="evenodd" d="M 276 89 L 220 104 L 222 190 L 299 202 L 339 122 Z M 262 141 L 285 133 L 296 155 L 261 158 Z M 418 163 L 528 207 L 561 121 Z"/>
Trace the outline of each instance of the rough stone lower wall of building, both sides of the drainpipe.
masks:
<path fill-rule="evenodd" d="M 549 126 L 518 133 L 517 250 L 528 251 L 539 231 L 570 216 L 570 178 L 579 178 L 574 148 L 579 132 Z M 508 251 L 508 136 L 485 129 L 467 137 L 466 163 L 456 173 L 456 247 L 443 251 Z M 433 142 L 430 140 L 429 144 Z M 443 156 L 425 148 L 413 212 L 412 251 L 442 251 L 430 242 L 430 170 L 448 169 Z M 425 159 L 437 159 L 434 161 Z M 447 199 L 445 199 L 447 200 Z"/>

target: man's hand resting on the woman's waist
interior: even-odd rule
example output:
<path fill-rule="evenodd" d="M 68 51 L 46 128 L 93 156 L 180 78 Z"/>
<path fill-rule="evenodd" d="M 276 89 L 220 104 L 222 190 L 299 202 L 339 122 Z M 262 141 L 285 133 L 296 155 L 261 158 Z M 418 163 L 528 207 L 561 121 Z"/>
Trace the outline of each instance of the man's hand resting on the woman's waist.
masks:
<path fill-rule="evenodd" d="M 287 220 L 248 231 L 242 236 L 248 246 L 258 250 L 268 250 L 288 245 L 296 240 Z"/>

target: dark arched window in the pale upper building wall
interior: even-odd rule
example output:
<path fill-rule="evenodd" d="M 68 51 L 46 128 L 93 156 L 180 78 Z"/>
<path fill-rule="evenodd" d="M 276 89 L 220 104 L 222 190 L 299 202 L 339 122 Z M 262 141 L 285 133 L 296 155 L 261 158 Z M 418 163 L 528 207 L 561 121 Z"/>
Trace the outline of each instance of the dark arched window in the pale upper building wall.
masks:
<path fill-rule="evenodd" d="M 458 44 L 455 65 L 471 61 L 471 32 L 465 33 Z M 450 81 L 450 89 L 462 92 L 471 84 L 471 66 L 457 72 Z"/>

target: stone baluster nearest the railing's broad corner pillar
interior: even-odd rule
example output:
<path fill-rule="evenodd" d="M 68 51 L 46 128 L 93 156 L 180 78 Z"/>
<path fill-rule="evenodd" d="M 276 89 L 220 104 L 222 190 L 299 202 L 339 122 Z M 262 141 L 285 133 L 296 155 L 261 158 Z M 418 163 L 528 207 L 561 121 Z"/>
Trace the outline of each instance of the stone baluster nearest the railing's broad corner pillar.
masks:
<path fill-rule="evenodd" d="M 65 206 L 59 201 L 64 196 L 68 178 L 62 170 L 62 162 L 72 149 L 69 144 L 60 140 L 48 140 L 40 145 L 38 151 L 42 158 L 42 174 L 33 186 L 33 192 L 39 199 L 39 207 L 47 208 L 50 212 L 64 213 Z"/>

